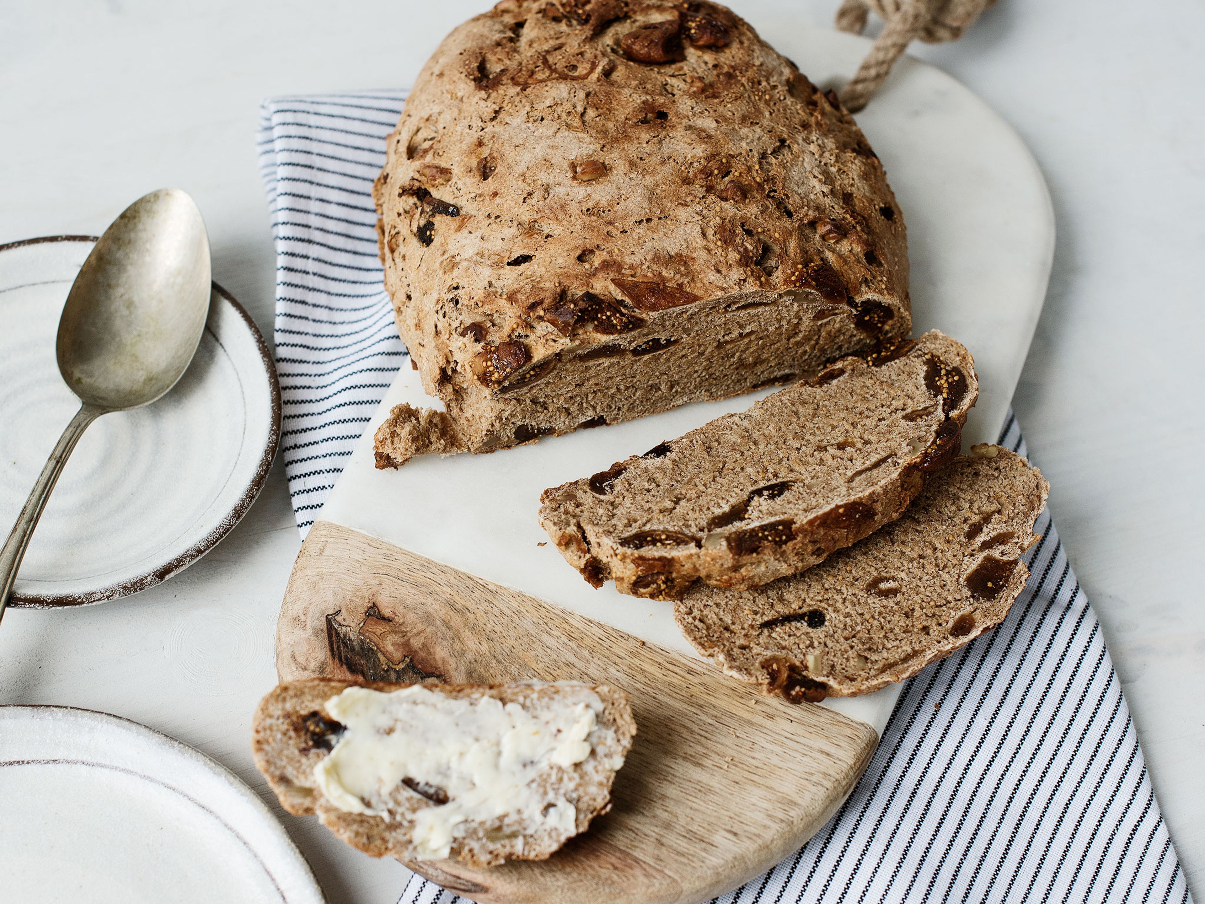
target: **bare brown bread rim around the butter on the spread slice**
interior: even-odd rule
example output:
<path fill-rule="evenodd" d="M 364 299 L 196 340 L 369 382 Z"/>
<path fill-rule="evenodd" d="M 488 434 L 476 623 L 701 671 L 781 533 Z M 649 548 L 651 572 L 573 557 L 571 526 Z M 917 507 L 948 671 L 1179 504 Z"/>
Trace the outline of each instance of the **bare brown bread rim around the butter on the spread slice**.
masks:
<path fill-rule="evenodd" d="M 494 697 L 501 703 L 548 703 L 562 691 L 558 685 L 441 685 L 425 682 L 433 692 L 449 698 Z M 390 856 L 402 862 L 416 859 L 411 839 L 412 822 L 405 818 L 386 821 L 340 810 L 322 794 L 313 777 L 313 768 L 328 753 L 337 736 L 324 740 L 322 722 L 313 720 L 329 714 L 324 704 L 348 687 L 370 687 L 376 691 L 398 691 L 408 683 L 349 682 L 329 679 L 286 681 L 260 702 L 252 723 L 252 752 L 255 767 L 277 799 L 294 816 L 317 814 L 322 823 L 353 847 L 374 857 Z M 602 700 L 598 724 L 604 730 L 590 755 L 575 767 L 563 769 L 560 777 L 566 799 L 576 808 L 577 821 L 572 834 L 584 832 L 590 821 L 610 810 L 611 782 L 616 769 L 609 762 L 623 761 L 636 734 L 628 695 L 605 685 L 589 686 Z M 307 717 L 310 722 L 307 723 Z M 337 723 L 330 723 L 337 726 Z M 317 726 L 317 727 L 316 727 Z M 559 768 L 558 768 L 559 769 Z M 399 809 L 411 812 L 429 804 L 416 794 L 401 796 Z M 501 826 L 471 826 L 468 833 L 452 844 L 452 857 L 475 867 L 489 867 L 506 859 L 547 859 L 566 838 L 548 832 L 515 837 L 501 833 Z M 506 838 L 498 835 L 505 834 Z"/>

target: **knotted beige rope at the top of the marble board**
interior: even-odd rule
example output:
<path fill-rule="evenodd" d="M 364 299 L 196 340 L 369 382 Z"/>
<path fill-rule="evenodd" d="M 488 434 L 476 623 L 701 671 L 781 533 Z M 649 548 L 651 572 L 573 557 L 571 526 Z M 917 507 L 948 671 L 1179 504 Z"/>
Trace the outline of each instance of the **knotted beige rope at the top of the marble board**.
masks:
<path fill-rule="evenodd" d="M 871 10 L 887 23 L 858 74 L 841 92 L 846 110 L 857 112 L 887 78 L 895 60 L 913 39 L 929 43 L 953 41 L 995 0 L 844 0 L 836 13 L 836 27 L 862 34 Z"/>

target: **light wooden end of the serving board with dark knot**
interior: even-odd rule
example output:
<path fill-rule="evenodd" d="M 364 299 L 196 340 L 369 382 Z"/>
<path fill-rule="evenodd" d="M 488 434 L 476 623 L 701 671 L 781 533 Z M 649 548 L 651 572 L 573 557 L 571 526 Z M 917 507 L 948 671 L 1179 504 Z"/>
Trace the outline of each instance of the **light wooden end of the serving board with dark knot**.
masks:
<path fill-rule="evenodd" d="M 318 521 L 277 628 L 282 680 L 311 676 L 624 688 L 637 734 L 613 809 L 548 861 L 407 863 L 486 904 L 693 904 L 806 841 L 853 788 L 877 736 L 758 694 L 715 665 Z"/>

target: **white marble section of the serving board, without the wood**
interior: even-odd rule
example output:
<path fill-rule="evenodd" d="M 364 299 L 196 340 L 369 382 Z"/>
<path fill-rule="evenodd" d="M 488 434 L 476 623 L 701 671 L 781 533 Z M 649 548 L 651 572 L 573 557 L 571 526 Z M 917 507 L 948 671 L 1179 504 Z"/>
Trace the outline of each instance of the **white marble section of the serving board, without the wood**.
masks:
<path fill-rule="evenodd" d="M 844 84 L 870 45 L 789 22 L 763 25 L 762 33 L 824 88 Z M 916 59 L 899 61 L 857 121 L 907 223 L 915 333 L 941 329 L 975 356 L 980 399 L 963 445 L 994 442 L 1046 297 L 1054 250 L 1046 183 L 1007 123 L 959 82 Z M 404 366 L 318 517 L 695 656 L 669 604 L 622 595 L 611 583 L 594 589 L 552 544 L 543 545 L 548 538 L 535 517 L 540 492 L 742 411 L 769 392 L 487 456 L 423 456 L 378 471 L 372 434 L 389 409 L 402 401 L 439 406 Z M 824 704 L 882 733 L 898 695 L 895 685 Z"/>

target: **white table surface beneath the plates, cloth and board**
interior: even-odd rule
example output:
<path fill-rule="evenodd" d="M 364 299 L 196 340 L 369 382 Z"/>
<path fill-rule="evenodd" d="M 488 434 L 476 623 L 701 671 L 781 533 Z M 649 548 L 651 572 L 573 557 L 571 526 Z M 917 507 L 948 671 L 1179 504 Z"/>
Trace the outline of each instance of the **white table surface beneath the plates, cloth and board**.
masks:
<path fill-rule="evenodd" d="M 754 25 L 827 24 L 837 5 L 730 2 Z M 141 194 L 178 186 L 205 213 L 214 278 L 270 339 L 260 99 L 407 84 L 453 25 L 488 5 L 6 2 L 0 242 L 98 234 Z M 1050 182 L 1058 248 L 1015 409 L 1189 887 L 1205 899 L 1205 303 L 1191 290 L 1205 248 L 1205 6 L 1003 0 L 958 43 L 913 52 L 1009 119 Z M 270 799 L 248 733 L 275 683 L 276 612 L 299 546 L 277 466 L 230 536 L 167 583 L 77 611 L 10 610 L 0 703 L 134 718 Z M 284 818 L 333 903 L 396 899 L 399 864 Z"/>

